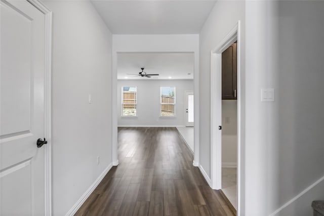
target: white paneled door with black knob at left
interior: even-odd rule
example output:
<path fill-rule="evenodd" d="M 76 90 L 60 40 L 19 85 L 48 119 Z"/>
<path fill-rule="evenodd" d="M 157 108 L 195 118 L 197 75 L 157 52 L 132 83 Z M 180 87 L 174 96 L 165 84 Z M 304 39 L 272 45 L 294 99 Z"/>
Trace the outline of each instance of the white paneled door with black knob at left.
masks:
<path fill-rule="evenodd" d="M 45 215 L 45 15 L 1 1 L 1 215 Z"/>

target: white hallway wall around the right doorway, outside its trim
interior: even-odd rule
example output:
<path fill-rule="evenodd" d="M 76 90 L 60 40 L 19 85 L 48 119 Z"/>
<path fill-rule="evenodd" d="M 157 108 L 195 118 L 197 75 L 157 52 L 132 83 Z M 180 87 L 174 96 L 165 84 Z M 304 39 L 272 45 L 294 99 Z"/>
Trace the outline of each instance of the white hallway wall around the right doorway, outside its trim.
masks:
<path fill-rule="evenodd" d="M 241 67 L 240 72 L 242 75 L 242 81 L 245 77 L 245 1 L 217 1 L 209 18 L 207 19 L 204 27 L 199 34 L 199 143 L 200 143 L 200 165 L 204 168 L 207 175 L 211 175 L 211 50 L 219 46 L 221 40 L 229 33 L 229 31 L 237 24 L 237 21 L 241 21 Z M 241 89 L 238 90 L 241 93 L 242 102 L 244 102 L 244 83 Z M 245 112 L 244 104 L 241 104 L 241 114 Z M 244 126 L 244 119 L 241 119 L 241 125 Z M 241 140 L 244 141 L 244 128 L 241 131 Z M 241 142 L 243 147 L 245 144 Z M 240 161 L 242 167 L 244 167 L 243 159 Z M 241 173 L 242 179 L 244 179 L 244 169 Z M 241 182 L 244 186 L 244 182 Z M 244 188 L 241 191 L 241 202 L 238 206 L 242 211 L 244 206 Z"/>

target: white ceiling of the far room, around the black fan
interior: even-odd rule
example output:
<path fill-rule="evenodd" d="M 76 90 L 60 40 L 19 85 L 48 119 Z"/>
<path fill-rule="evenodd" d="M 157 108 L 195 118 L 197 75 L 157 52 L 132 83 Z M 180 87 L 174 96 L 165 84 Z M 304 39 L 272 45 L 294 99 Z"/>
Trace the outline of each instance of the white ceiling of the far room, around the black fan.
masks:
<path fill-rule="evenodd" d="M 117 79 L 193 79 L 193 66 L 193 53 L 119 53 Z M 148 74 L 159 75 L 147 78 L 128 74 L 138 74 L 141 67 Z"/>

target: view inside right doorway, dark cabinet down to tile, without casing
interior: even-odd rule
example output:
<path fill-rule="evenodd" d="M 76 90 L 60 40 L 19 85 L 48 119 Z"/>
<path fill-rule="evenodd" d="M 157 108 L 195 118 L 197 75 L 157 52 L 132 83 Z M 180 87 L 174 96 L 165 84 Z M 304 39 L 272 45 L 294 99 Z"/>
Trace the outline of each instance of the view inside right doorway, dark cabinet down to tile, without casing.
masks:
<path fill-rule="evenodd" d="M 222 52 L 222 189 L 221 193 L 237 209 L 237 101 L 236 44 Z"/>

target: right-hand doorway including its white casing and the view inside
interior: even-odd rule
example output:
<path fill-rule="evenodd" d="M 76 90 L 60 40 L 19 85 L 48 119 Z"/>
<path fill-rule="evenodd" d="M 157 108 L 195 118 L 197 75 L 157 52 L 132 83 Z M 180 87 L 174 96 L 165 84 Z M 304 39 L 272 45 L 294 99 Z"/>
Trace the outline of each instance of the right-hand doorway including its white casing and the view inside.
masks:
<path fill-rule="evenodd" d="M 233 49 L 233 44 L 236 49 Z M 227 62 L 224 61 L 225 56 L 222 57 L 222 54 L 233 53 L 234 50 L 235 61 L 233 57 Z M 233 62 L 237 68 L 236 80 L 233 73 L 229 77 L 222 77 L 224 64 L 229 64 L 232 69 L 235 67 Z M 225 84 L 224 81 L 228 83 Z M 223 85 L 226 85 L 224 87 L 227 89 L 223 90 Z M 232 202 L 230 200 L 229 202 L 234 206 L 236 201 L 237 215 L 240 212 L 240 86 L 240 21 L 238 21 L 220 44 L 211 51 L 211 186 L 217 190 L 224 189 L 228 186 L 226 183 L 232 181 L 231 184 L 234 186 L 232 190 L 237 193 L 231 197 Z M 224 97 L 222 90 L 229 94 Z M 224 179 L 222 174 L 225 174 Z M 226 176 L 230 177 L 227 182 Z"/>

